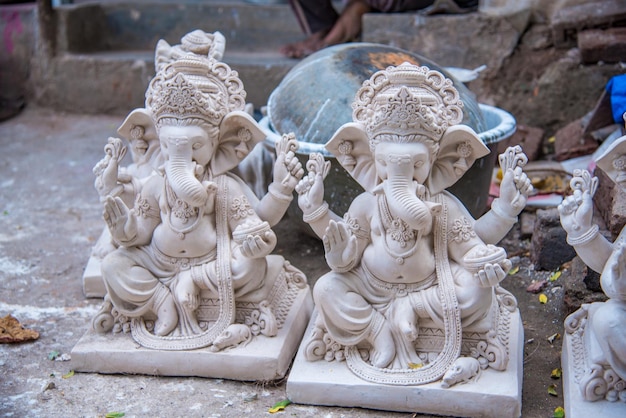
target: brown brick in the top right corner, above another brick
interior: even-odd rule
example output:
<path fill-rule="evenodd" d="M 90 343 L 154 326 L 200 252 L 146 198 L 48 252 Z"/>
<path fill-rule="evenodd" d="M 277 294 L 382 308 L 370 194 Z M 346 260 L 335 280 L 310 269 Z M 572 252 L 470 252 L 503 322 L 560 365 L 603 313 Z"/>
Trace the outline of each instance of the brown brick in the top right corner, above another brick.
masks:
<path fill-rule="evenodd" d="M 606 29 L 626 25 L 624 0 L 601 0 L 564 7 L 551 18 L 552 36 L 557 47 L 572 47 L 585 29 Z"/>

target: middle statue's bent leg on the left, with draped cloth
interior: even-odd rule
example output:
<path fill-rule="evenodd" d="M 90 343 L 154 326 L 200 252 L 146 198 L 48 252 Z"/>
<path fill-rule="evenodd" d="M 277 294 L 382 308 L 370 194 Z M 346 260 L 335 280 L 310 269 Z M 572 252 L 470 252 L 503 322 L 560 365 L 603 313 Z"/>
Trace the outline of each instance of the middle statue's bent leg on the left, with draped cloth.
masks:
<path fill-rule="evenodd" d="M 372 346 L 372 365 L 387 367 L 396 354 L 391 328 L 387 319 L 352 286 L 360 281 L 354 273 L 325 274 L 313 289 L 315 306 L 335 341 L 347 346 L 367 341 Z"/>

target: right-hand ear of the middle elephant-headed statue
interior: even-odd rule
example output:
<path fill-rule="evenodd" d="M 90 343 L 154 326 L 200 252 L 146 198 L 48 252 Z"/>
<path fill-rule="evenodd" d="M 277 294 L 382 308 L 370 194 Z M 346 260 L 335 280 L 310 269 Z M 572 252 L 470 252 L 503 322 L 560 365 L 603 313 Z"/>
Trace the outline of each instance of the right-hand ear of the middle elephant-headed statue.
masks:
<path fill-rule="evenodd" d="M 470 169 L 474 161 L 489 152 L 489 148 L 469 126 L 449 127 L 441 138 L 437 161 L 428 178 L 427 187 L 431 195 L 452 186 Z"/>

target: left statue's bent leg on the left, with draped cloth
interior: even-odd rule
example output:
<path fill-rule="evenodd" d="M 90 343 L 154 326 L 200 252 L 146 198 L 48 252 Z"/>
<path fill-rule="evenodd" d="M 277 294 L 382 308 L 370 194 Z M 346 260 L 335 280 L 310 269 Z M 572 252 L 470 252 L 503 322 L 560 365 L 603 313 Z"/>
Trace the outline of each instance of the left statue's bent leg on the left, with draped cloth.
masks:
<path fill-rule="evenodd" d="M 113 251 L 102 260 L 102 278 L 113 305 L 124 315 L 138 318 L 153 313 L 157 335 L 167 335 L 176 327 L 178 313 L 169 288 L 125 252 Z"/>

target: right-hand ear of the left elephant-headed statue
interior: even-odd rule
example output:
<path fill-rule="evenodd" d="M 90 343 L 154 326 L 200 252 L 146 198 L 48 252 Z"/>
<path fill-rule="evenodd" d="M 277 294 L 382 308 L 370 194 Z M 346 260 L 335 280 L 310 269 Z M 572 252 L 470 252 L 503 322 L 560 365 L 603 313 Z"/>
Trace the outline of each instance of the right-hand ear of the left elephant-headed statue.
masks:
<path fill-rule="evenodd" d="M 254 118 L 240 110 L 224 116 L 219 131 L 219 144 L 211 162 L 214 176 L 236 167 L 266 137 Z"/>

